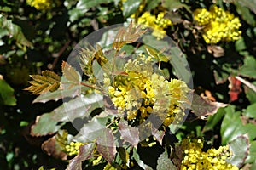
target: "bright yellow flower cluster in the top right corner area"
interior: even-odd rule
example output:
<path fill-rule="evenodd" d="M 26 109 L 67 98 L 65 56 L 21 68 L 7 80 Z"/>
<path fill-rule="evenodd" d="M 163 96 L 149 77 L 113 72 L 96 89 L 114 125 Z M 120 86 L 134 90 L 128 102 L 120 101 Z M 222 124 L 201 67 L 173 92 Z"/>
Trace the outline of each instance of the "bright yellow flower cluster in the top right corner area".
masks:
<path fill-rule="evenodd" d="M 204 27 L 202 36 L 207 43 L 236 41 L 241 37 L 239 18 L 215 5 L 209 11 L 206 8 L 196 9 L 194 17 L 198 25 Z"/>

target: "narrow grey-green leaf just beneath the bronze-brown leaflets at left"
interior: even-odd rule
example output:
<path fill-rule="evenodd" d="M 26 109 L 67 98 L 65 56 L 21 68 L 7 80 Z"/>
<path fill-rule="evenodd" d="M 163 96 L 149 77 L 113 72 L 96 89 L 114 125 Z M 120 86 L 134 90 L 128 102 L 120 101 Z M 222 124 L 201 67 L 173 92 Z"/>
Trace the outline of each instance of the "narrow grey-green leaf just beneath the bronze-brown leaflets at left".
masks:
<path fill-rule="evenodd" d="M 89 89 L 90 88 L 84 86 L 75 86 L 74 88 L 70 89 L 61 89 L 55 92 L 47 92 L 45 94 L 40 94 L 36 99 L 33 100 L 32 103 L 46 103 L 49 100 L 57 101 L 59 99 L 64 99 L 67 97 L 74 98 L 76 96 L 79 96 L 81 92 L 85 92 Z"/>

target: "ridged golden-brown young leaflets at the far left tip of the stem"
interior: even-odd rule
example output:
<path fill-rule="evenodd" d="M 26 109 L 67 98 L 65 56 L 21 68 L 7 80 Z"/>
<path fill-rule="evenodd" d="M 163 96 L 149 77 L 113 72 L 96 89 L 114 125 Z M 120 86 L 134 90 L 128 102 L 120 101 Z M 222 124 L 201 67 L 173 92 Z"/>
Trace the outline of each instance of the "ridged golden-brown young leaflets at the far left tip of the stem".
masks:
<path fill-rule="evenodd" d="M 29 81 L 29 83 L 32 86 L 25 88 L 25 90 L 32 92 L 32 94 L 44 94 L 48 91 L 54 92 L 60 88 L 61 77 L 53 71 L 42 71 L 42 76 L 32 75 L 31 77 L 33 80 Z"/>

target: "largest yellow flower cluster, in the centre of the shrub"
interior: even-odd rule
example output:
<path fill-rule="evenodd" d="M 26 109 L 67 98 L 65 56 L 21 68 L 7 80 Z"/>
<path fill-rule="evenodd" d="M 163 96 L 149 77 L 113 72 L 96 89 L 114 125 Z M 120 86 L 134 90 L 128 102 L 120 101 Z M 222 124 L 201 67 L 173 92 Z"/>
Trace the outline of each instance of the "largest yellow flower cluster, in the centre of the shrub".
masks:
<path fill-rule="evenodd" d="M 143 54 L 133 61 L 128 60 L 125 74 L 115 77 L 114 82 L 108 84 L 113 104 L 120 112 L 126 112 L 129 121 L 139 118 L 139 122 L 143 122 L 154 113 L 165 126 L 181 122 L 189 88 L 181 80 L 168 82 L 154 73 L 152 64 L 151 57 Z"/>

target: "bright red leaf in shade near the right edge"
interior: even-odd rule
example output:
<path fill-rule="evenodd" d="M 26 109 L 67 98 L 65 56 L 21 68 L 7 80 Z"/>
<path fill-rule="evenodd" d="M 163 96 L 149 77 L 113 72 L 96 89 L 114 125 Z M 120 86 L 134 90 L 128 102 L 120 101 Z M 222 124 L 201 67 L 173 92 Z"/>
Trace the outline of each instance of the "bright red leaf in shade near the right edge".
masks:
<path fill-rule="evenodd" d="M 228 80 L 230 82 L 230 102 L 236 101 L 236 99 L 238 99 L 238 95 L 241 93 L 241 82 L 233 76 L 230 76 Z"/>

